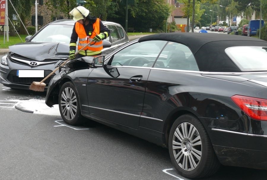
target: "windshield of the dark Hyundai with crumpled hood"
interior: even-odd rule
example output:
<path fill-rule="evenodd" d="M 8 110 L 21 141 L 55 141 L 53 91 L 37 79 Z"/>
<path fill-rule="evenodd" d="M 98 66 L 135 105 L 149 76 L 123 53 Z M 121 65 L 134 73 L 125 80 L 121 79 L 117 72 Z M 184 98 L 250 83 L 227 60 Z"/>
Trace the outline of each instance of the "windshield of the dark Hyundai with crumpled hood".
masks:
<path fill-rule="evenodd" d="M 31 42 L 62 42 L 69 44 L 72 25 L 50 24 L 40 31 Z"/>

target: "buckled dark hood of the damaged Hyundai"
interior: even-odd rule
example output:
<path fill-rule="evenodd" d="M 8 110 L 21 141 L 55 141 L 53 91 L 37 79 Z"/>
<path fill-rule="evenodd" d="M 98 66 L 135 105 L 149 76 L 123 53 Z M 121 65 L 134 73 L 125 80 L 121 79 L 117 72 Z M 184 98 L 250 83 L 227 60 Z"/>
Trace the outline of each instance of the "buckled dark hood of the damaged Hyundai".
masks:
<path fill-rule="evenodd" d="M 36 61 L 66 59 L 69 55 L 69 44 L 60 42 L 25 42 L 9 46 L 9 50 Z"/>

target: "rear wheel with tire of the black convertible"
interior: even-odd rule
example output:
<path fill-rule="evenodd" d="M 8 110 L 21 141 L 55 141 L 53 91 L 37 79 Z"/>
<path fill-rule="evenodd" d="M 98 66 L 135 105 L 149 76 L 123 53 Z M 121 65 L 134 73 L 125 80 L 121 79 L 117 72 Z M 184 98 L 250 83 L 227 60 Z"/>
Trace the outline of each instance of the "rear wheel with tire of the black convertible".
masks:
<path fill-rule="evenodd" d="M 168 146 L 172 164 L 186 178 L 208 177 L 220 168 L 203 124 L 191 114 L 182 115 L 174 121 Z"/>

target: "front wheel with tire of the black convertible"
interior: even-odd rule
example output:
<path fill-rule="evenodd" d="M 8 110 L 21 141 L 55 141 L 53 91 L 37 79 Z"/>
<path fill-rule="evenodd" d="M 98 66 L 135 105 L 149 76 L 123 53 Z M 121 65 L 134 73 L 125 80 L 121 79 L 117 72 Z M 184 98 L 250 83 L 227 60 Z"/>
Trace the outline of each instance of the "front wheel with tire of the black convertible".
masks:
<path fill-rule="evenodd" d="M 58 106 L 62 119 L 69 125 L 78 125 L 85 119 L 81 115 L 77 90 L 71 82 L 66 82 L 61 86 Z"/>

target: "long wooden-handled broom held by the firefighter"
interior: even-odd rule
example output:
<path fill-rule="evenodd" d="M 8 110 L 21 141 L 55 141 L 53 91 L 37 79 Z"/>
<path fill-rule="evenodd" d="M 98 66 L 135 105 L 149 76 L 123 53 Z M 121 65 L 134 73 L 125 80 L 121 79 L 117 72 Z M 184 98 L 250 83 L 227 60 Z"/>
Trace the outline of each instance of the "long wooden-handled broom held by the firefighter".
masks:
<path fill-rule="evenodd" d="M 93 40 L 92 40 L 93 41 Z M 92 42 L 88 42 L 85 46 L 83 46 L 80 50 L 77 51 L 77 53 L 75 53 L 74 55 L 76 56 L 78 53 L 80 53 L 81 50 L 83 50 L 84 48 L 86 48 L 88 45 L 90 45 L 90 43 Z M 65 62 L 63 62 L 61 64 L 61 66 L 65 65 L 70 59 L 67 59 Z M 55 68 L 55 70 L 53 70 L 49 75 L 47 75 L 43 80 L 41 80 L 40 82 L 32 82 L 31 86 L 29 87 L 30 90 L 32 91 L 40 91 L 43 92 L 45 91 L 45 86 L 46 84 L 44 83 L 44 81 L 49 78 L 51 75 L 53 75 L 57 70 L 59 69 L 59 67 Z"/>

